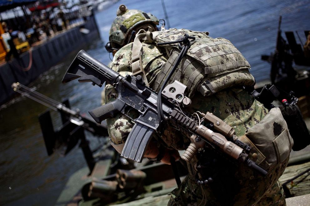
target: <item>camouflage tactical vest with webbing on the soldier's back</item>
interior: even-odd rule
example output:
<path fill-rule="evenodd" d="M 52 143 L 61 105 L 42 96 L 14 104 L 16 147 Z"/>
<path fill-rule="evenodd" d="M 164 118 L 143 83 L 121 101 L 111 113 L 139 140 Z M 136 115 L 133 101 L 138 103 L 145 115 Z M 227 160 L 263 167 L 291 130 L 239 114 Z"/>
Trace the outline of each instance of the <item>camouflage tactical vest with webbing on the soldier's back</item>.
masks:
<path fill-rule="evenodd" d="M 149 31 L 148 31 L 149 32 Z M 186 29 L 169 29 L 155 31 L 152 33 L 137 35 L 132 50 L 133 73 L 143 72 L 145 60 L 142 59 L 142 44 L 176 41 L 183 38 L 187 33 L 194 36 L 191 40 L 191 47 L 183 57 L 172 78 L 178 80 L 188 88 L 188 97 L 192 97 L 195 91 L 204 96 L 212 95 L 222 89 L 232 86 L 253 86 L 254 77 L 249 73 L 250 65 L 239 50 L 232 43 L 224 38 L 208 36 L 206 32 L 191 31 Z M 139 40 L 139 41 L 138 41 Z M 157 45 L 158 46 L 158 45 Z M 178 44 L 162 45 L 169 57 L 165 65 L 160 69 L 153 86 L 158 91 L 172 65 L 176 61 L 180 50 Z M 142 51 L 142 52 L 141 52 Z"/>

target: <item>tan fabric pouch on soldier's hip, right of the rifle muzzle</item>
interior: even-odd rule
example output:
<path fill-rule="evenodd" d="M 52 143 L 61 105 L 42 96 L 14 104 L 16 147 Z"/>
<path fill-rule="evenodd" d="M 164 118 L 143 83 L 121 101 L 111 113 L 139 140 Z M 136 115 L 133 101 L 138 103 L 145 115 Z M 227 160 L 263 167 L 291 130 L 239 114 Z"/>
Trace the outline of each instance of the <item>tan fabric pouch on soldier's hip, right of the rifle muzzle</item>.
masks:
<path fill-rule="evenodd" d="M 293 146 L 279 108 L 272 108 L 262 121 L 247 129 L 245 135 L 238 139 L 252 147 L 252 160 L 266 170 L 286 160 Z"/>

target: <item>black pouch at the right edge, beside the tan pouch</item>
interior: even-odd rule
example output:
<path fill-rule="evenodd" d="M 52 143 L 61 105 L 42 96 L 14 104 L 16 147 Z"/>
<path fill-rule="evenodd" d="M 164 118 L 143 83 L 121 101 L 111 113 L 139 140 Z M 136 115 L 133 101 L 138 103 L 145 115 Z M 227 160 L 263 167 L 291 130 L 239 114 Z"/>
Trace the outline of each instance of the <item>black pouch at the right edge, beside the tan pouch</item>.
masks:
<path fill-rule="evenodd" d="M 310 144 L 310 134 L 307 125 L 302 118 L 302 114 L 296 104 L 279 107 L 287 127 L 294 140 L 294 151 L 299 151 Z"/>

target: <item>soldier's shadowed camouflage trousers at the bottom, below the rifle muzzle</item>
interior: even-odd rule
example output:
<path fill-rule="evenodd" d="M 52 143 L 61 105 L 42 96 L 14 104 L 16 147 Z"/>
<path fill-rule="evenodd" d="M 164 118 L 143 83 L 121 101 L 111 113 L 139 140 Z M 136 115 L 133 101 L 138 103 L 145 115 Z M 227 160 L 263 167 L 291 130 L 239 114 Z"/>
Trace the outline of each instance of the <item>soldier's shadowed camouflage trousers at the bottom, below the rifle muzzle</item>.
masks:
<path fill-rule="evenodd" d="M 288 158 L 266 177 L 244 165 L 239 165 L 239 172 L 234 174 L 230 174 L 233 171 L 227 168 L 207 186 L 197 185 L 194 177 L 187 175 L 181 185 L 171 192 L 168 205 L 286 205 L 282 185 L 277 180 L 287 162 Z"/>

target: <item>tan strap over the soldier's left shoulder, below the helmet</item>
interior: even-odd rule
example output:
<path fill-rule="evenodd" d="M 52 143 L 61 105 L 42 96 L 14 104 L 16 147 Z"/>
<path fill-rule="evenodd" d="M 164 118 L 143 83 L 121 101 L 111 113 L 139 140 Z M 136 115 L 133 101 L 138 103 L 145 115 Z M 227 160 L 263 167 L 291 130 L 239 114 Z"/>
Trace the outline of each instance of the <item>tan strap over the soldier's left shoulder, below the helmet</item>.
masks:
<path fill-rule="evenodd" d="M 140 41 L 140 39 L 144 38 L 146 34 L 140 33 L 140 31 L 138 33 L 139 34 L 135 37 L 135 40 L 133 41 L 133 49 L 131 56 L 133 75 L 142 73 L 143 81 L 145 85 L 149 87 L 150 85 L 148 84 L 148 79 L 146 78 L 146 74 L 142 65 L 143 48 L 142 43 Z"/>

